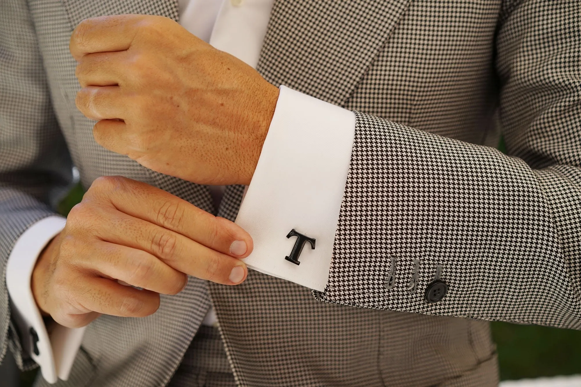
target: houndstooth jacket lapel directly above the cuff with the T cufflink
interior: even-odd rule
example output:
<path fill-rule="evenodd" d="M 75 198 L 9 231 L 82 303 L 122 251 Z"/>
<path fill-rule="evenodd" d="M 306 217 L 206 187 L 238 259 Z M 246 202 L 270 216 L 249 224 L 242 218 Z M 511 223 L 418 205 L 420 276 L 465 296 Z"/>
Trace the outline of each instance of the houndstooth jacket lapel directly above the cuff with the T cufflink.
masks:
<path fill-rule="evenodd" d="M 275 0 L 257 69 L 345 105 L 410 0 Z"/>

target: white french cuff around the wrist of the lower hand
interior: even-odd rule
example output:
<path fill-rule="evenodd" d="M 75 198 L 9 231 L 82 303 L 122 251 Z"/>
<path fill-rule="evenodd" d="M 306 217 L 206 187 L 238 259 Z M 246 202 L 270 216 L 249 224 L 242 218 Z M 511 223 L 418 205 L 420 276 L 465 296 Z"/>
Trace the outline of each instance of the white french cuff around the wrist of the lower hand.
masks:
<path fill-rule="evenodd" d="M 17 239 L 6 265 L 10 309 L 20 331 L 22 347 L 40 366 L 42 377 L 49 383 L 69 377 L 85 330 L 55 323 L 49 334 L 30 286 L 38 256 L 63 230 L 65 223 L 66 220 L 60 216 L 49 216 L 34 223 Z"/>

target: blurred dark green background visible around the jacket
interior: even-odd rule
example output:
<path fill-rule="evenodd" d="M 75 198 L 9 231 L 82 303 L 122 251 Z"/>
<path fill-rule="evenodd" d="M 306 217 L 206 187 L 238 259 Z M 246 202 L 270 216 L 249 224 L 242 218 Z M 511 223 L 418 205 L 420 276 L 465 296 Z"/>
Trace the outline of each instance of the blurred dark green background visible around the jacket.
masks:
<path fill-rule="evenodd" d="M 505 152 L 504 142 L 498 149 Z M 83 198 L 83 188 L 74 187 L 60 203 L 59 212 L 69 213 Z M 581 331 L 493 322 L 501 380 L 581 374 Z M 21 375 L 21 386 L 30 386 L 36 371 Z"/>

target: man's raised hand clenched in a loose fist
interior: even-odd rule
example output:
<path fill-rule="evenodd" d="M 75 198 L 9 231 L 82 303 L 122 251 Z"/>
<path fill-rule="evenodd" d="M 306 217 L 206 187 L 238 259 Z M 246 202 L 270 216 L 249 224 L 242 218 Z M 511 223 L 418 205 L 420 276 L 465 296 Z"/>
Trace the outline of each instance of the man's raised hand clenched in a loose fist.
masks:
<path fill-rule="evenodd" d="M 83 20 L 70 51 L 95 140 L 160 173 L 249 184 L 278 88 L 162 16 Z"/>

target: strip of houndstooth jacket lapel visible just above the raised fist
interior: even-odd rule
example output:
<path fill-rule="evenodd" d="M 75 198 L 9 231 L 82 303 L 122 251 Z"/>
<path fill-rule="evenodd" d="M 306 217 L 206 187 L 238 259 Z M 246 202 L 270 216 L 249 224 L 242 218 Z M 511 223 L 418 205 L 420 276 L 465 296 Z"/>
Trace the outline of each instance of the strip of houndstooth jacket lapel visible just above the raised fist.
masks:
<path fill-rule="evenodd" d="M 160 15 L 178 21 L 177 0 L 63 0 L 74 28 L 83 19 L 105 15 Z"/>

